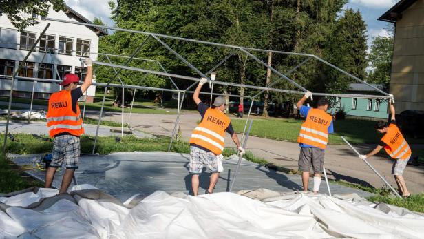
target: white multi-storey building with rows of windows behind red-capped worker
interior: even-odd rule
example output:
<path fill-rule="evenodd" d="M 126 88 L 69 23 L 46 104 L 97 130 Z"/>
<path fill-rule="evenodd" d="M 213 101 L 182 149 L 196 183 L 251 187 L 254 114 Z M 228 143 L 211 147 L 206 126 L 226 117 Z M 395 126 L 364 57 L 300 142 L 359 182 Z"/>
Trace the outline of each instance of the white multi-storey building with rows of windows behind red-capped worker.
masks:
<path fill-rule="evenodd" d="M 23 14 L 23 17 L 37 17 L 39 24 L 18 32 L 8 17 L 0 16 L 0 75 L 12 75 L 21 61 L 28 54 L 47 23 L 50 27 L 30 54 L 25 66 L 18 76 L 63 79 L 67 73 L 75 73 L 84 81 L 86 67 L 81 66 L 80 58 L 97 59 L 98 39 L 107 34 L 105 30 L 84 25 L 48 21 L 39 16 Z M 67 21 L 91 23 L 68 6 L 65 11 L 55 12 L 50 8 L 47 17 Z M 0 76 L 0 97 L 10 94 L 11 79 Z M 34 98 L 48 99 L 50 94 L 59 90 L 58 83 L 43 83 L 15 79 L 13 97 L 31 98 L 34 87 Z M 87 102 L 93 102 L 96 87 L 87 90 Z"/>

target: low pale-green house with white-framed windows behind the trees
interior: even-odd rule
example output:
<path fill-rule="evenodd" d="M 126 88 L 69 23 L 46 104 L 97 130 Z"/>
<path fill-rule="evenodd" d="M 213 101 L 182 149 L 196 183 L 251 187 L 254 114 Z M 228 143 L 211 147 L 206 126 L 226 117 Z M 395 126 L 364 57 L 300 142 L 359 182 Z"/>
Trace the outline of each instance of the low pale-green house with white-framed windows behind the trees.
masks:
<path fill-rule="evenodd" d="M 371 84 L 383 90 L 384 85 Z M 368 85 L 361 83 L 350 84 L 349 94 L 368 94 L 380 95 Z M 388 119 L 388 101 L 375 98 L 341 98 L 330 97 L 331 107 L 329 113 L 335 114 L 343 109 L 346 112 L 346 118 L 360 118 L 368 120 L 386 120 Z"/>

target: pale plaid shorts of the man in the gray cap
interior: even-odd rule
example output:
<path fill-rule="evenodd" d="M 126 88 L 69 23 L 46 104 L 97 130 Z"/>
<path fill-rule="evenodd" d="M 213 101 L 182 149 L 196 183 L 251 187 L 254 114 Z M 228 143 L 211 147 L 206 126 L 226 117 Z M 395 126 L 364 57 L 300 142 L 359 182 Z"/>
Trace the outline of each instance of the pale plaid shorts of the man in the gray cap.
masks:
<path fill-rule="evenodd" d="M 211 173 L 218 172 L 218 160 L 215 154 L 190 146 L 190 174 L 202 173 L 203 165 L 206 165 Z"/>

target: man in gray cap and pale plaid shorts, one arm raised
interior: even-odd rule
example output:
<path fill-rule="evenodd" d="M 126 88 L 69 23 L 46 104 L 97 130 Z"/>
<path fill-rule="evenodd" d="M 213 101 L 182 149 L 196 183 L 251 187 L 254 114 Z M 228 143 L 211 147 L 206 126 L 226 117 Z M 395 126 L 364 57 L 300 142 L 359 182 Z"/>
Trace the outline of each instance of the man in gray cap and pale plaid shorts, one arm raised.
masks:
<path fill-rule="evenodd" d="M 190 163 L 189 172 L 191 176 L 191 187 L 193 195 L 198 195 L 199 190 L 199 175 L 202 173 L 203 166 L 209 168 L 211 179 L 209 188 L 205 194 L 211 194 L 215 185 L 218 182 L 222 168 L 222 151 L 225 145 L 225 132 L 231 135 L 237 149 L 241 155 L 244 154 L 244 149 L 240 145 L 240 141 L 235 134 L 231 120 L 224 114 L 225 99 L 218 96 L 213 101 L 213 106 L 208 107 L 200 101 L 199 94 L 202 85 L 207 79 L 202 78 L 198 87 L 193 94 L 193 100 L 198 105 L 198 112 L 202 116 L 202 121 L 195 127 L 190 138 Z"/>

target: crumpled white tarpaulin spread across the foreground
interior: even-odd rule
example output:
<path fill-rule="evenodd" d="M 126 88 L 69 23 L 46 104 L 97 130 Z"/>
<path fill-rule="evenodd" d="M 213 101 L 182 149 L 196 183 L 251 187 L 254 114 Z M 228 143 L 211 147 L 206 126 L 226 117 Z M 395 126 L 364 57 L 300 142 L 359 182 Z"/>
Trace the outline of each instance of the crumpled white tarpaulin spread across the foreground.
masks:
<path fill-rule="evenodd" d="M 76 189 L 0 197 L 0 238 L 424 238 L 424 216 L 357 196 L 156 191 L 123 204 L 91 185 Z"/>

